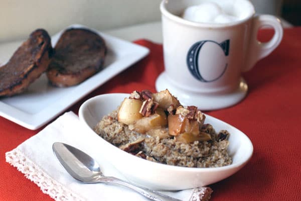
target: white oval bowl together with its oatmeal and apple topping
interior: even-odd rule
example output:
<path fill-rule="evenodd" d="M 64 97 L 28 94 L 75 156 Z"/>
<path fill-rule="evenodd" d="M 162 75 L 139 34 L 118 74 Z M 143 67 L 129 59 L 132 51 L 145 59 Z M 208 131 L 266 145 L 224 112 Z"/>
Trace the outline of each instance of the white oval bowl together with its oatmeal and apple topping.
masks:
<path fill-rule="evenodd" d="M 145 117 L 138 114 L 144 101 L 140 105 L 128 100 L 140 100 L 137 94 L 133 95 L 97 95 L 86 100 L 79 109 L 80 122 L 89 133 L 83 143 L 93 144 L 98 158 L 103 159 L 98 162 L 104 173 L 115 168 L 124 179 L 138 185 L 157 190 L 181 190 L 225 179 L 251 158 L 251 141 L 235 127 L 210 115 L 205 117 L 194 107 L 180 107 L 177 112 L 175 109 L 179 106 L 172 109 L 168 104 L 156 106 L 155 112 L 156 107 L 144 108 L 141 112 L 148 116 Z M 153 101 L 172 102 L 177 106 L 176 99 L 168 97 L 172 96 L 156 96 Z M 139 103 L 134 104 L 135 112 L 129 110 L 130 102 Z M 158 110 L 162 107 L 169 110 Z"/>

